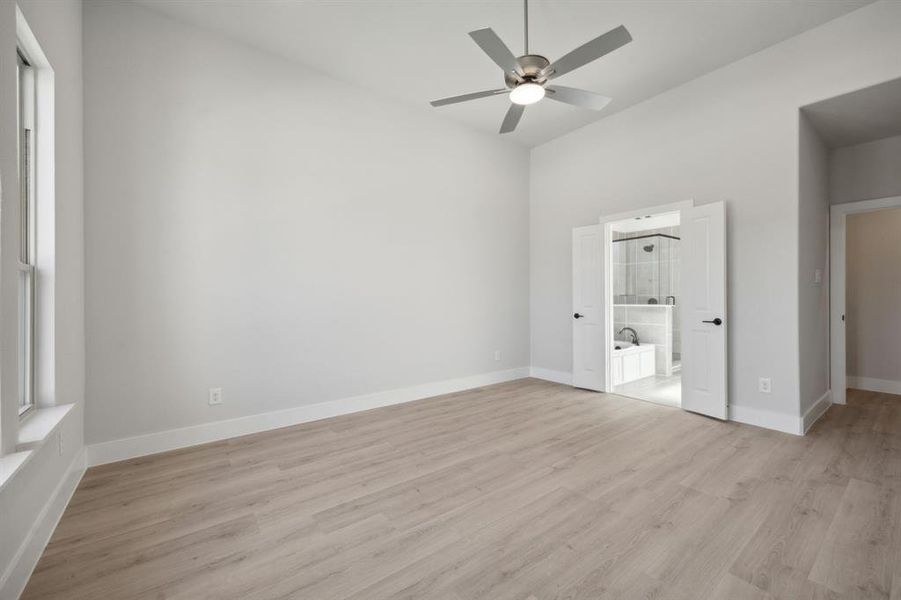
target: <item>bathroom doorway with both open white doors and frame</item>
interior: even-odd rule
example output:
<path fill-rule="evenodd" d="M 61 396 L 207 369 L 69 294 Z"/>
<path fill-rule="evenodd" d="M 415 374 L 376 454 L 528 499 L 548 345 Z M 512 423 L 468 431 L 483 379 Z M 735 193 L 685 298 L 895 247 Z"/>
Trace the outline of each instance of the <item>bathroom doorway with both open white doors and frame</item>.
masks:
<path fill-rule="evenodd" d="M 725 203 L 601 216 L 572 236 L 572 385 L 727 419 Z"/>

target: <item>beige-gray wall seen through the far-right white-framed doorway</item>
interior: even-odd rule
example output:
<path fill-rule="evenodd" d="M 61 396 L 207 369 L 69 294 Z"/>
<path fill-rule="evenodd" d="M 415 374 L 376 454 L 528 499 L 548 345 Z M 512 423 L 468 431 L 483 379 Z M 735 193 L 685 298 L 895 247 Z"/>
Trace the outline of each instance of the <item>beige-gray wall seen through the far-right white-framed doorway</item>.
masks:
<path fill-rule="evenodd" d="M 901 384 L 901 209 L 848 215 L 847 372 Z"/>

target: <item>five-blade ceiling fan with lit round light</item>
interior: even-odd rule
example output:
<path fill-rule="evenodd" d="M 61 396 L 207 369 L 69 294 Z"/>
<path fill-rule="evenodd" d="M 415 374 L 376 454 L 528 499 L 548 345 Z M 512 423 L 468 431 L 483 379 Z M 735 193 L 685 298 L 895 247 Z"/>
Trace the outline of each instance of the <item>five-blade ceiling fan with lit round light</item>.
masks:
<path fill-rule="evenodd" d="M 529 0 L 523 0 L 523 14 L 525 54 L 518 58 L 510 52 L 510 49 L 490 27 L 469 33 L 469 36 L 485 54 L 503 69 L 506 88 L 433 100 L 431 105 L 445 106 L 499 94 L 509 94 L 511 104 L 503 123 L 501 123 L 500 133 L 509 133 L 516 129 L 526 106 L 535 104 L 545 97 L 591 110 L 601 110 L 607 106 L 610 98 L 606 96 L 577 88 L 548 84 L 552 79 L 583 67 L 605 54 L 625 46 L 632 41 L 629 31 L 620 25 L 590 42 L 582 44 L 554 62 L 550 62 L 539 54 L 529 54 Z"/>

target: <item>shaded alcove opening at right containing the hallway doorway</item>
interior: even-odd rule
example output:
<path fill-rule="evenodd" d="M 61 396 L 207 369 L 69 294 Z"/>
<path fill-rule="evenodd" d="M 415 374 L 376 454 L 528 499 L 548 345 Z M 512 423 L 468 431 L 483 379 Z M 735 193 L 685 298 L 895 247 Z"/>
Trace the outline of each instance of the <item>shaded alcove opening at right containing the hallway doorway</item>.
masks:
<path fill-rule="evenodd" d="M 901 394 L 901 78 L 799 111 L 803 428 L 831 404 Z M 858 390 L 849 395 L 848 389 Z"/>

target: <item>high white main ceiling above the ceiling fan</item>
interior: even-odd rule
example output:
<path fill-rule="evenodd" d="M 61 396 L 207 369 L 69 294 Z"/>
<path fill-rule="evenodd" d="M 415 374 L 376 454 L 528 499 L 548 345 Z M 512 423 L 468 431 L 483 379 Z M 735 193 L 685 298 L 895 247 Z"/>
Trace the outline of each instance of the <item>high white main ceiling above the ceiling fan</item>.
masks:
<path fill-rule="evenodd" d="M 435 109 L 428 102 L 503 87 L 467 32 L 491 27 L 522 53 L 519 0 L 137 1 L 491 134 L 505 96 Z M 554 60 L 620 24 L 634 41 L 558 80 L 613 97 L 607 108 L 541 102 L 507 137 L 541 144 L 870 1 L 531 0 L 532 53 Z"/>

